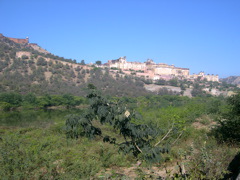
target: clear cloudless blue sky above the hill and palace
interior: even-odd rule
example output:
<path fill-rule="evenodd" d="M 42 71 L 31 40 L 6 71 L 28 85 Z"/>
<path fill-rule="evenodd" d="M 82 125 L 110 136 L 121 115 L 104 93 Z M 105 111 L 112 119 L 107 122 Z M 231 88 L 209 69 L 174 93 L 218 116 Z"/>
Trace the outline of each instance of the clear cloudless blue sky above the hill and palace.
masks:
<path fill-rule="evenodd" d="M 240 0 L 0 0 L 0 33 L 95 63 L 174 64 L 240 76 Z"/>

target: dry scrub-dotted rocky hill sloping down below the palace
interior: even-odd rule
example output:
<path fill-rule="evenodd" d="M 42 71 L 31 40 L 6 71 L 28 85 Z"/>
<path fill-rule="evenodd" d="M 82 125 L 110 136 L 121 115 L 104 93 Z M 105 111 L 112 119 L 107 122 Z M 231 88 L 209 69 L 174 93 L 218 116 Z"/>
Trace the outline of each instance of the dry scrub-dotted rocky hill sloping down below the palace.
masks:
<path fill-rule="evenodd" d="M 238 78 L 222 82 L 197 77 L 173 76 L 168 80 L 139 76 L 138 71 L 123 71 L 84 61 L 66 59 L 51 54 L 29 39 L 8 38 L 0 34 L 0 90 L 1 92 L 29 92 L 36 95 L 84 95 L 92 83 L 106 95 L 142 96 L 169 94 L 184 96 L 227 95 L 236 91 Z M 229 84 L 231 83 L 231 84 Z M 150 85 L 150 86 L 149 86 Z"/>

